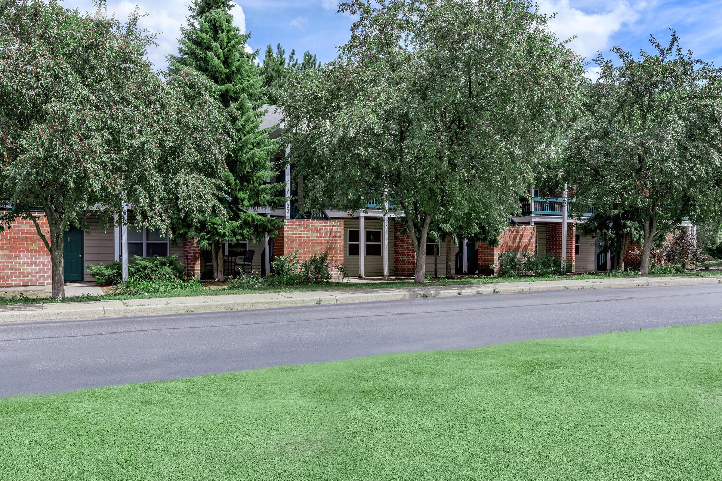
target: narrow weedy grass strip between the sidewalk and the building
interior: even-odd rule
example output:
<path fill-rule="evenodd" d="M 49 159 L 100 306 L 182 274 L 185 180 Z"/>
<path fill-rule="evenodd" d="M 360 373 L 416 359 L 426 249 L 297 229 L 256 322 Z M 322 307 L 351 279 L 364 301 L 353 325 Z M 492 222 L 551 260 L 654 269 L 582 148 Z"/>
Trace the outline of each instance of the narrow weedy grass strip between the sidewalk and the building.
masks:
<path fill-rule="evenodd" d="M 701 275 L 722 275 L 722 272 L 705 272 L 705 273 L 682 273 L 672 274 L 674 277 L 693 277 Z M 495 284 L 509 282 L 535 282 L 535 281 L 563 281 L 574 279 L 609 279 L 609 278 L 625 278 L 639 277 L 635 273 L 585 273 L 580 275 L 566 276 L 550 276 L 550 277 L 517 277 L 517 278 L 499 278 L 499 277 L 466 277 L 455 279 L 444 279 L 442 281 L 427 281 L 425 286 L 462 286 L 468 284 Z M 648 275 L 648 277 L 669 277 L 669 274 Z M 164 297 L 186 297 L 186 296 L 217 296 L 225 294 L 259 294 L 265 292 L 298 292 L 298 291 L 349 291 L 360 289 L 380 289 L 380 288 L 417 288 L 412 280 L 402 281 L 386 281 L 373 283 L 339 283 L 331 282 L 325 284 L 311 284 L 306 286 L 284 286 L 284 287 L 253 287 L 253 288 L 209 288 L 200 286 L 198 288 L 183 288 L 173 291 L 152 292 L 152 293 L 123 293 L 123 294 L 105 294 L 103 296 L 76 296 L 66 299 L 50 299 L 48 297 L 37 296 L 20 296 L 18 291 L 9 294 L 0 293 L 0 306 L 12 304 L 41 304 L 49 302 L 78 302 L 78 301 L 110 301 L 114 299 L 154 299 Z M 0 288 L 1 291 L 1 288 Z"/>

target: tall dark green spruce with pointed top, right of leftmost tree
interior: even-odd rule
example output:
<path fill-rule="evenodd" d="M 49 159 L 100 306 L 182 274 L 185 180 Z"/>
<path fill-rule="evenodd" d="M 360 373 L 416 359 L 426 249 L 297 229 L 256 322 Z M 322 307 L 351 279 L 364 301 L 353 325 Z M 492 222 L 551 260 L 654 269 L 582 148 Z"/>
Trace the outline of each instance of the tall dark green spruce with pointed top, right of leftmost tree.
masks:
<path fill-rule="evenodd" d="M 231 0 L 194 0 L 188 23 L 181 27 L 178 55 L 168 56 L 170 71 L 187 66 L 217 84 L 217 94 L 232 119 L 235 138 L 226 162 L 226 198 L 223 208 L 201 222 L 186 223 L 186 234 L 199 237 L 201 247 L 210 248 L 214 279 L 224 281 L 223 242 L 258 239 L 279 225 L 254 207 L 277 202 L 279 184 L 273 178 L 272 158 L 279 144 L 269 138 L 269 129 L 259 130 L 266 112 L 262 101 L 263 71 L 256 66 L 256 53 L 245 52 L 250 34 L 233 25 Z"/>

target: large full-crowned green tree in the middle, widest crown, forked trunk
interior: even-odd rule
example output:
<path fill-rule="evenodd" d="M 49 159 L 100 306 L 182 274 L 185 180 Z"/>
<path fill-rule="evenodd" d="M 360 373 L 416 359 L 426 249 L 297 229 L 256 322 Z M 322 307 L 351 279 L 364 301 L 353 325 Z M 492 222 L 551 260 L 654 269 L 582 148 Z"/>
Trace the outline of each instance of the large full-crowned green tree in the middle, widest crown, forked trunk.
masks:
<path fill-rule="evenodd" d="M 581 61 L 529 0 L 349 0 L 335 61 L 280 105 L 305 202 L 401 211 L 425 278 L 432 225 L 501 231 L 535 153 L 575 105 Z M 472 236 L 469 236 L 472 237 Z"/>

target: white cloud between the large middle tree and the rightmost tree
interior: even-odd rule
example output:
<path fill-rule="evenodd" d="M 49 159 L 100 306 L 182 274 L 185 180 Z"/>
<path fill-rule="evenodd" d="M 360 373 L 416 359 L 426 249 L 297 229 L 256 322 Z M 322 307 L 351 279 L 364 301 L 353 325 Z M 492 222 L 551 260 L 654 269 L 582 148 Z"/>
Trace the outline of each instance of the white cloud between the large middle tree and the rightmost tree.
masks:
<path fill-rule="evenodd" d="M 560 40 L 567 40 L 574 35 L 571 48 L 580 56 L 593 57 L 597 50 L 604 50 L 609 45 L 609 37 L 623 26 L 632 25 L 639 17 L 638 9 L 630 6 L 627 1 L 619 0 L 606 5 L 602 12 L 586 13 L 569 5 L 569 0 L 540 0 L 539 9 L 547 14 L 557 13 L 549 22 Z"/>

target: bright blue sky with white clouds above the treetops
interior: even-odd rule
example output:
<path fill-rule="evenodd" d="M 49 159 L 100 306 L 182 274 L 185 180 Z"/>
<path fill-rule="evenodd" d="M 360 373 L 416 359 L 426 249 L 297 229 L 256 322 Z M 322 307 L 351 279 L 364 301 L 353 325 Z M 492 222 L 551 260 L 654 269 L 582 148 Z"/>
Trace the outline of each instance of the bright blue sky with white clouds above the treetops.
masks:
<path fill-rule="evenodd" d="M 189 0 L 108 0 L 108 12 L 124 18 L 138 5 L 149 15 L 142 26 L 159 35 L 160 45 L 149 53 L 159 69 L 165 55 L 175 53 L 176 39 L 185 22 Z M 551 26 L 560 38 L 573 35 L 573 48 L 586 58 L 596 50 L 608 52 L 613 45 L 637 52 L 649 49 L 649 34 L 665 41 L 669 27 L 682 38 L 682 47 L 692 48 L 697 58 L 722 64 L 722 0 L 538 0 L 543 12 L 556 12 Z M 322 62 L 335 56 L 335 46 L 347 40 L 352 19 L 336 14 L 335 0 L 236 0 L 236 25 L 250 31 L 251 48 L 281 43 L 290 53 L 305 50 Z M 92 0 L 65 0 L 68 7 L 92 10 Z"/>

